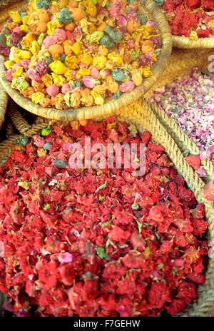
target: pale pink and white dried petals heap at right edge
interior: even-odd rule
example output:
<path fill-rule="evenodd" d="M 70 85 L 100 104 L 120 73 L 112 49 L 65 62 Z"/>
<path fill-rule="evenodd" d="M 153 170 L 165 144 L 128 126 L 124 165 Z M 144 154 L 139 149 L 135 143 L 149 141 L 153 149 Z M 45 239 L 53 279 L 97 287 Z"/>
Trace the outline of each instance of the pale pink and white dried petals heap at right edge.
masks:
<path fill-rule="evenodd" d="M 200 159 L 214 164 L 214 75 L 194 68 L 171 84 L 158 88 L 151 98 L 159 108 L 174 118 L 202 152 Z M 200 168 L 199 175 L 206 175 Z"/>

